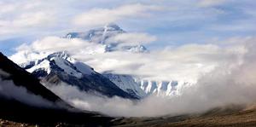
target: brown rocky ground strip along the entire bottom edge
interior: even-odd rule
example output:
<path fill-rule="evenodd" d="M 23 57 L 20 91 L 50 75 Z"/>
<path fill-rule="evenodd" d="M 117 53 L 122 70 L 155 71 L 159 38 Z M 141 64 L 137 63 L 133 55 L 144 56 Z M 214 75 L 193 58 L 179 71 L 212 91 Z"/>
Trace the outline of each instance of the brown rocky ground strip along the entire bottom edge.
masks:
<path fill-rule="evenodd" d="M 65 113 L 64 113 L 65 114 Z M 81 117 L 78 115 L 78 117 Z M 87 118 L 87 117 L 85 117 Z M 45 119 L 49 120 L 49 119 Z M 103 123 L 105 126 L 119 127 L 255 127 L 256 126 L 256 107 L 241 109 L 240 107 L 215 108 L 207 113 L 181 115 L 175 117 L 160 117 L 160 118 L 116 118 L 111 120 L 106 118 L 110 123 Z M 16 119 L 5 120 L 0 118 L 0 126 L 20 127 L 20 126 L 95 126 L 93 124 L 82 124 L 72 121 L 38 124 L 31 122 L 19 121 Z M 96 122 L 96 121 L 95 121 Z"/>

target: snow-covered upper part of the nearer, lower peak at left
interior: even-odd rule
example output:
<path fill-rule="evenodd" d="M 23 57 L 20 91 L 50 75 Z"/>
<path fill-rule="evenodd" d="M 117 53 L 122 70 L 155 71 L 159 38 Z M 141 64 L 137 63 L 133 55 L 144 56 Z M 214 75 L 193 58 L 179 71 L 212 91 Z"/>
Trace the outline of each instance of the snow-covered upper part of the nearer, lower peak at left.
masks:
<path fill-rule="evenodd" d="M 62 69 L 63 72 L 77 78 L 82 78 L 83 74 L 90 75 L 94 73 L 90 66 L 76 61 L 67 51 L 56 52 L 43 59 L 20 64 L 20 66 L 25 68 L 28 72 L 33 72 L 38 77 L 44 77 L 56 68 Z"/>

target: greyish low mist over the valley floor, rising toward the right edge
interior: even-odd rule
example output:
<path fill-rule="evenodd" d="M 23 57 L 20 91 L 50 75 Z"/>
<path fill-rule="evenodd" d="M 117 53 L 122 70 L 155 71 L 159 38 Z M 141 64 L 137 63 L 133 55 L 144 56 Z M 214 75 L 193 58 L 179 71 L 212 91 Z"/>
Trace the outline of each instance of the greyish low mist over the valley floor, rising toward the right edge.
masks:
<path fill-rule="evenodd" d="M 230 59 L 212 72 L 201 75 L 196 84 L 185 87 L 181 95 L 151 95 L 141 101 L 131 101 L 86 94 L 67 84 L 49 89 L 75 107 L 110 116 L 155 117 L 200 113 L 212 107 L 230 104 L 249 105 L 256 102 L 256 51 L 253 49 L 256 45 L 249 41 L 242 46 L 246 53 L 241 56 L 240 61 Z"/>

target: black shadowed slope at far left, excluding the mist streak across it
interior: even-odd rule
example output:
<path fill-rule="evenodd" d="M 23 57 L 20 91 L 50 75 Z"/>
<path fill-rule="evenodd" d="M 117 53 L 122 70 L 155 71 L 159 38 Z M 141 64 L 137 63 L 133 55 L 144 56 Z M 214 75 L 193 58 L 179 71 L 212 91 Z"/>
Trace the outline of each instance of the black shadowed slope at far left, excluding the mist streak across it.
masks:
<path fill-rule="evenodd" d="M 34 107 L 6 98 L 0 95 L 0 118 L 20 123 L 54 126 L 58 123 L 67 123 L 81 126 L 110 126 L 113 118 L 99 115 L 98 113 L 85 112 L 69 106 L 60 97 L 46 89 L 31 73 L 10 61 L 0 53 L 0 70 L 9 75 L 0 73 L 1 80 L 11 80 L 16 86 L 21 86 L 33 95 L 43 97 L 54 103 L 56 107 Z M 3 84 L 0 84 L 0 86 Z"/>

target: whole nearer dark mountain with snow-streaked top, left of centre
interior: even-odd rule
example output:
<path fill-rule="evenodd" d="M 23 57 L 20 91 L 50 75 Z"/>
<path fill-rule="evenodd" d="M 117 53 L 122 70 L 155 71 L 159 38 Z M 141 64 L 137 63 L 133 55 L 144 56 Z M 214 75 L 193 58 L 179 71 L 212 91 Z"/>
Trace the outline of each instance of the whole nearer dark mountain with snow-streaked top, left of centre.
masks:
<path fill-rule="evenodd" d="M 28 72 L 32 72 L 34 76 L 41 78 L 45 84 L 66 83 L 91 94 L 138 98 L 136 95 L 130 95 L 119 89 L 108 78 L 95 72 L 90 66 L 74 60 L 67 52 L 50 54 L 44 59 L 29 61 L 20 66 Z"/>

